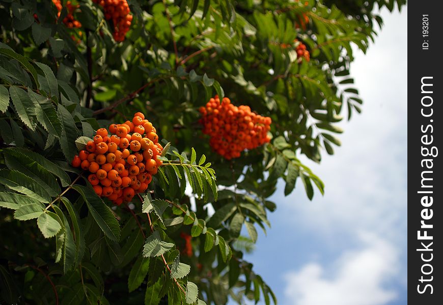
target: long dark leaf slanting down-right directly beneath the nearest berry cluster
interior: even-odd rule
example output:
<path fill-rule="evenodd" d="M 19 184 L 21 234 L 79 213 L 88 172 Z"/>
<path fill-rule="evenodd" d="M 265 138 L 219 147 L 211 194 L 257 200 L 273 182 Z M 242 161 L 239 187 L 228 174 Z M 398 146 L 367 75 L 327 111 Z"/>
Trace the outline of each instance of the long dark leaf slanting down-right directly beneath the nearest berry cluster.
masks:
<path fill-rule="evenodd" d="M 97 196 L 94 190 L 84 186 L 74 186 L 76 190 L 85 200 L 92 217 L 102 229 L 103 233 L 113 241 L 119 241 L 120 225 L 112 209 L 104 204 L 103 200 Z"/>

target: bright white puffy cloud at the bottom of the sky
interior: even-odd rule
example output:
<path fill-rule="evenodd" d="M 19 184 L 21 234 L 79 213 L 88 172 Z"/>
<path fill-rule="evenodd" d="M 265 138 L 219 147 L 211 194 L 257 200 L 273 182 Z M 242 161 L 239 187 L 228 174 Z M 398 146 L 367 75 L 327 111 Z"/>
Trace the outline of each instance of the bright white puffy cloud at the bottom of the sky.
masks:
<path fill-rule="evenodd" d="M 308 263 L 285 275 L 288 305 L 383 305 L 397 297 L 384 287 L 398 273 L 398 252 L 372 233 L 359 233 L 364 247 L 346 251 L 331 266 Z M 329 270 L 330 269 L 330 270 Z"/>

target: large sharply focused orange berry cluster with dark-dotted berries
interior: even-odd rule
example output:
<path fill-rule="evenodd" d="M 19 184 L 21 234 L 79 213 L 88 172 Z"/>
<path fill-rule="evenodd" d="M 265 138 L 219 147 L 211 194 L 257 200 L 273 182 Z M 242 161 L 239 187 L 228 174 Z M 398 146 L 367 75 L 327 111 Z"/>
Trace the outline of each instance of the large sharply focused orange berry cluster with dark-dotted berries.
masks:
<path fill-rule="evenodd" d="M 97 130 L 72 166 L 90 172 L 88 180 L 98 196 L 120 205 L 146 191 L 162 164 L 157 158 L 162 151 L 155 127 L 137 112 L 132 121 Z"/>

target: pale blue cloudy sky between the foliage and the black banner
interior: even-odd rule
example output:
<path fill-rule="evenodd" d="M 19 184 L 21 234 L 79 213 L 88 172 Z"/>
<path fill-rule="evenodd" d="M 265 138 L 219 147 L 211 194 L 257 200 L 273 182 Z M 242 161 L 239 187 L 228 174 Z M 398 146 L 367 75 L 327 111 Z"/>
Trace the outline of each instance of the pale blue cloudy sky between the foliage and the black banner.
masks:
<path fill-rule="evenodd" d="M 272 227 L 245 256 L 279 304 L 407 303 L 407 9 L 381 15 L 375 43 L 351 64 L 362 114 L 341 123 L 334 156 L 303 160 L 325 195 L 309 201 L 297 181 L 284 197 L 279 185 Z"/>

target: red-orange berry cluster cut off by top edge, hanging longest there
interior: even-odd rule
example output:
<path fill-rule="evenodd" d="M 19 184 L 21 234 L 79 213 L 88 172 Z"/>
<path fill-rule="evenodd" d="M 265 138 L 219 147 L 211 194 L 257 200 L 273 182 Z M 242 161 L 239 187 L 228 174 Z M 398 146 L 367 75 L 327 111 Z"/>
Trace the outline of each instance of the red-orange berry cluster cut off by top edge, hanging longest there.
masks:
<path fill-rule="evenodd" d="M 125 40 L 132 22 L 128 2 L 126 0 L 93 0 L 93 2 L 103 7 L 106 20 L 113 20 L 115 41 Z"/>

